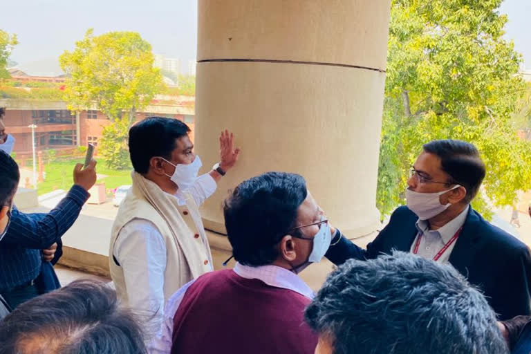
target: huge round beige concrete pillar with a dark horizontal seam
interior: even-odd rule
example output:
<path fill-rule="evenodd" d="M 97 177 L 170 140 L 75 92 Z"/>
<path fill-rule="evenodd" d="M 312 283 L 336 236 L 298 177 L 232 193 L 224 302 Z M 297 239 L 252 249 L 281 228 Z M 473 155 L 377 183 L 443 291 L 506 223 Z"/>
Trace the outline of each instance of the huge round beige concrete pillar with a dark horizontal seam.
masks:
<path fill-rule="evenodd" d="M 207 171 L 224 128 L 243 150 L 203 207 L 207 229 L 224 233 L 227 191 L 265 171 L 304 176 L 348 236 L 378 227 L 390 4 L 198 1 L 196 151 Z"/>

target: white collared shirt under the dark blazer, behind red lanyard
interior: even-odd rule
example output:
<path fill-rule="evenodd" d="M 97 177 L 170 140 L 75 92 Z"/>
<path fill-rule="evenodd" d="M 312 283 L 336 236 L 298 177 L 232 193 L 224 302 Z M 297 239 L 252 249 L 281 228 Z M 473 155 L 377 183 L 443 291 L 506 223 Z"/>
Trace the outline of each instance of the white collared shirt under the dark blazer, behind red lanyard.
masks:
<path fill-rule="evenodd" d="M 443 227 L 440 227 L 440 229 L 438 230 L 429 230 L 428 221 L 418 220 L 416 223 L 418 234 L 413 240 L 413 243 L 411 244 L 410 251 L 413 252 L 413 250 L 415 250 L 415 245 L 417 243 L 418 237 L 422 235 L 417 254 L 420 257 L 426 259 L 434 259 L 436 254 L 438 254 L 438 252 L 445 247 L 445 245 L 451 240 L 451 238 L 454 237 L 454 235 L 459 231 L 459 229 L 463 227 L 463 224 L 467 219 L 469 208 L 470 206 L 467 206 L 465 210 L 461 212 L 461 214 L 454 218 L 454 220 L 450 221 Z M 449 260 L 451 251 L 454 250 L 456 242 L 457 240 L 455 240 L 451 243 L 451 245 L 449 245 L 447 250 L 443 254 L 441 254 L 440 258 L 438 259 L 438 262 L 446 263 Z"/>

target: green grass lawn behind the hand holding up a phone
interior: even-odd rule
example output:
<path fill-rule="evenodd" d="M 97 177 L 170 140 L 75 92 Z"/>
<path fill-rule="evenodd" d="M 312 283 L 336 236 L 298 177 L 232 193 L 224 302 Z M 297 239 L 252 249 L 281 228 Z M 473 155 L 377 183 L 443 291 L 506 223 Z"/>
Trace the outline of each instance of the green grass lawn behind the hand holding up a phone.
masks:
<path fill-rule="evenodd" d="M 73 185 L 73 170 L 77 162 L 82 160 L 68 160 L 50 162 L 44 166 L 46 178 L 44 182 L 37 185 L 38 194 L 46 194 L 55 189 L 68 190 Z M 100 178 L 97 183 L 105 183 L 106 189 L 114 189 L 120 185 L 131 185 L 131 171 L 130 170 L 115 170 L 106 167 L 105 162 L 98 160 L 96 171 L 98 176 L 106 175 L 105 178 Z"/>

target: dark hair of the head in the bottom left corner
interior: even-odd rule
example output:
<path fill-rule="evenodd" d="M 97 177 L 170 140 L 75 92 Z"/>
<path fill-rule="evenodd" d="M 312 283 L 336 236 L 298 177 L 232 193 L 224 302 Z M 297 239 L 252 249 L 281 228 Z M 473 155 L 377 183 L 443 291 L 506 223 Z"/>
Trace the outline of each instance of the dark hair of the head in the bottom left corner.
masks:
<path fill-rule="evenodd" d="M 0 322 L 0 353 L 143 354 L 140 324 L 102 281 L 78 280 Z M 36 351 L 39 346 L 40 351 Z"/>

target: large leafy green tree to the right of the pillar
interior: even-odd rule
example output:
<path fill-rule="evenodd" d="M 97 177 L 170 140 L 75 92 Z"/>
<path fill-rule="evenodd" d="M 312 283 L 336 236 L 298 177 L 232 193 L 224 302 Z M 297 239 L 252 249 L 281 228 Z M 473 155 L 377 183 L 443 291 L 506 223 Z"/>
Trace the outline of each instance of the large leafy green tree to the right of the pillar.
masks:
<path fill-rule="evenodd" d="M 389 30 L 378 208 L 404 203 L 407 171 L 422 144 L 472 142 L 487 176 L 474 207 L 510 205 L 531 187 L 531 143 L 512 124 L 526 86 L 521 56 L 503 39 L 501 0 L 393 0 Z M 486 197 L 486 198 L 485 198 Z M 487 203 L 487 201 L 489 203 Z"/>

